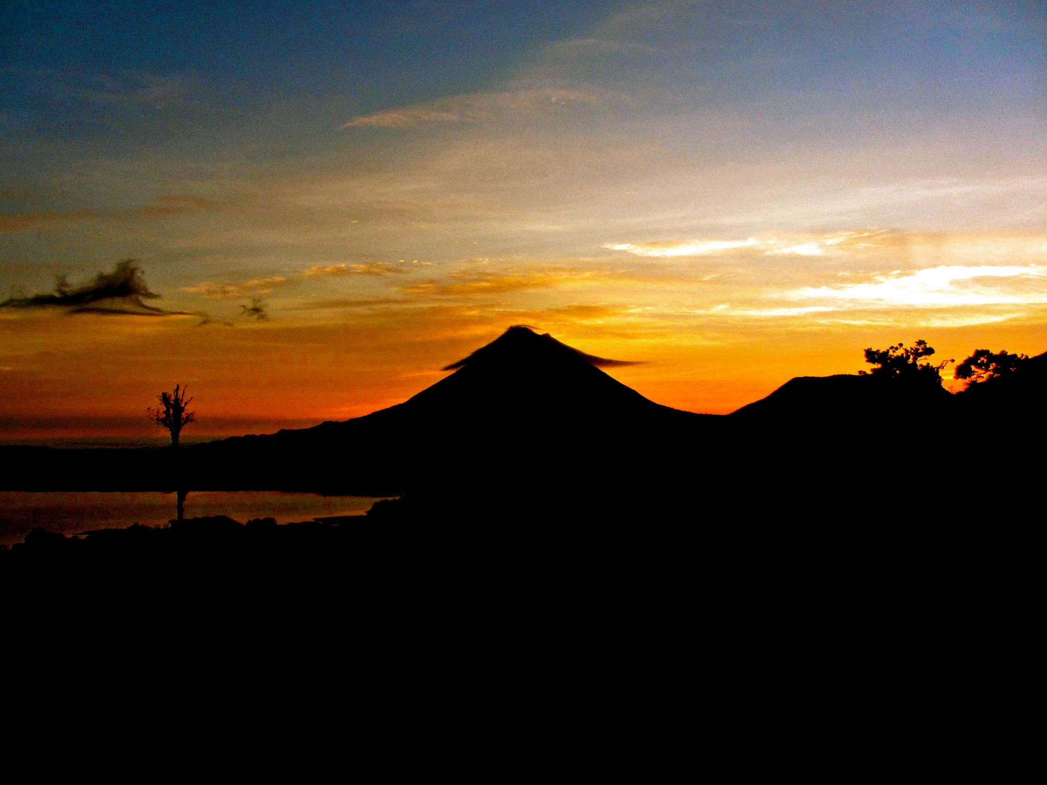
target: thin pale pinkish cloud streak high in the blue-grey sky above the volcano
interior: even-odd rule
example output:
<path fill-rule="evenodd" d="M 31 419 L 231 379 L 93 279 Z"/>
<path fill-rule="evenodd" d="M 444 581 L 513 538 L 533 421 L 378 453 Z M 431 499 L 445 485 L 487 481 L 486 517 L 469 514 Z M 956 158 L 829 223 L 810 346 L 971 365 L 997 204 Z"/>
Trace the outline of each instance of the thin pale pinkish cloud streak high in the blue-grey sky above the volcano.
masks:
<path fill-rule="evenodd" d="M 507 112 L 548 111 L 561 106 L 593 105 L 598 100 L 594 93 L 558 88 L 471 93 L 354 117 L 342 128 L 402 129 L 426 122 L 483 122 Z"/>

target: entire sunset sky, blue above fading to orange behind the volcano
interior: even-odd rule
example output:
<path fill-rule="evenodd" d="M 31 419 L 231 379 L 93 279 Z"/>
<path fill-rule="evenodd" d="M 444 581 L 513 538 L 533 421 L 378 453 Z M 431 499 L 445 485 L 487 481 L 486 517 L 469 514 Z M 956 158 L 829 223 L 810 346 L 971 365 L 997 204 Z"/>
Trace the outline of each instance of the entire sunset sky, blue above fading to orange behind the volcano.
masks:
<path fill-rule="evenodd" d="M 0 0 L 0 440 L 344 420 L 518 323 L 719 413 L 1047 351 L 1041 0 Z"/>

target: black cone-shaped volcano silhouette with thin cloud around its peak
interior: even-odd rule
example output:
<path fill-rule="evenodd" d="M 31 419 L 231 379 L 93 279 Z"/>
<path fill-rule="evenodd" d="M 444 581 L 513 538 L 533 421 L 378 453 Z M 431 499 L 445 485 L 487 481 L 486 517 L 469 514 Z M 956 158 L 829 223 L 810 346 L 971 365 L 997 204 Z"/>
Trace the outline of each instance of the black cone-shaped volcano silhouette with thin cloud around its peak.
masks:
<path fill-rule="evenodd" d="M 192 481 L 206 488 L 231 471 L 241 487 L 281 479 L 285 487 L 320 481 L 379 493 L 537 467 L 606 476 L 715 419 L 656 404 L 597 367 L 625 364 L 633 363 L 512 327 L 396 406 L 191 448 L 188 463 L 198 467 Z"/>

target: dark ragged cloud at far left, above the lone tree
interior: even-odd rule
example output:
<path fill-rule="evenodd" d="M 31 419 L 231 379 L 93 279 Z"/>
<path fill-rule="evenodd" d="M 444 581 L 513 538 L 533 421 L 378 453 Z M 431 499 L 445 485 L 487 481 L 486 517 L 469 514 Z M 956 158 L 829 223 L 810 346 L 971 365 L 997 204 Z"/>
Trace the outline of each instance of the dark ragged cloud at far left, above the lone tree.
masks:
<path fill-rule="evenodd" d="M 150 291 L 137 260 L 117 262 L 112 272 L 99 272 L 87 284 L 69 285 L 65 275 L 59 275 L 51 294 L 34 294 L 28 297 L 8 297 L 0 308 L 62 308 L 68 313 L 134 314 L 139 316 L 184 316 L 182 311 L 164 311 L 146 305 L 147 299 L 158 299 Z"/>

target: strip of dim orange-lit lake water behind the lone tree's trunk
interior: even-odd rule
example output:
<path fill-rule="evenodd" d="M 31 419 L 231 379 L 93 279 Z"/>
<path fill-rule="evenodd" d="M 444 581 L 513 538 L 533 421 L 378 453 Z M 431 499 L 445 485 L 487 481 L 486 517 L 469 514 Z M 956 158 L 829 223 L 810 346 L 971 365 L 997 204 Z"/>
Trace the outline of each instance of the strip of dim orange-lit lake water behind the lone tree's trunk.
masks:
<path fill-rule="evenodd" d="M 250 518 L 275 518 L 291 523 L 336 515 L 363 515 L 377 498 L 320 496 L 281 491 L 190 491 L 184 497 L 185 517 L 228 515 L 241 523 Z M 159 526 L 177 515 L 174 492 L 69 492 L 0 491 L 0 544 L 21 542 L 35 526 L 77 534 L 92 529 L 124 529 L 132 523 Z"/>

